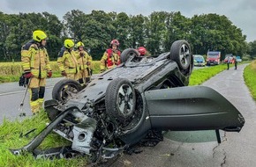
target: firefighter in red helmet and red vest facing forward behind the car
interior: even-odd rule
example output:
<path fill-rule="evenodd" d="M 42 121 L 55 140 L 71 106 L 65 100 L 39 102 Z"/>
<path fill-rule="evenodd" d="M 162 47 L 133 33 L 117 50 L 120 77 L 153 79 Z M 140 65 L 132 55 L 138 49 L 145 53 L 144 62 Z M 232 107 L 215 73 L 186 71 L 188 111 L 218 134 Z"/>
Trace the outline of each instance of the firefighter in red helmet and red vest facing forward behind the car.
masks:
<path fill-rule="evenodd" d="M 119 42 L 118 40 L 112 40 L 110 42 L 109 48 L 102 56 L 101 60 L 101 72 L 104 72 L 106 69 L 112 69 L 113 67 L 120 64 L 120 54 L 118 50 Z"/>

